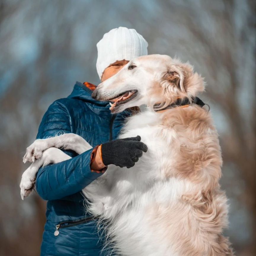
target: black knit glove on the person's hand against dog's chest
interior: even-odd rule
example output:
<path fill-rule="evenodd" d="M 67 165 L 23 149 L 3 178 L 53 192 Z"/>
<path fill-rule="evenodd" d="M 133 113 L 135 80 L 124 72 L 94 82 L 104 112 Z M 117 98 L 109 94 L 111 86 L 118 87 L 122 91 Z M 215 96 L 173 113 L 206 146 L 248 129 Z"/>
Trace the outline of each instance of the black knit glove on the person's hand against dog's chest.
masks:
<path fill-rule="evenodd" d="M 142 151 L 147 152 L 148 147 L 140 141 L 141 137 L 130 137 L 112 140 L 101 146 L 103 164 L 114 164 L 119 167 L 130 168 L 142 156 Z"/>

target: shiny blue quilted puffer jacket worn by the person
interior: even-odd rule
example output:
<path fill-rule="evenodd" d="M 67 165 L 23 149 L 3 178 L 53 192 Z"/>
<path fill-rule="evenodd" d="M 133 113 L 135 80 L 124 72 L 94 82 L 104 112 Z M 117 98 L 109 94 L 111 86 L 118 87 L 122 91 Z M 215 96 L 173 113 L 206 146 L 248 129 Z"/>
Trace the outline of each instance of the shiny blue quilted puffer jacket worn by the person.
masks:
<path fill-rule="evenodd" d="M 131 110 L 111 114 L 109 103 L 92 99 L 89 87 L 76 82 L 71 95 L 52 103 L 43 116 L 36 138 L 72 132 L 87 140 L 93 148 L 116 139 Z M 92 149 L 81 155 L 64 151 L 72 158 L 39 169 L 36 190 L 48 200 L 41 255 L 100 255 L 103 239 L 99 239 L 96 222 L 90 220 L 92 216 L 85 213 L 81 193 L 84 187 L 102 175 L 91 172 Z"/>

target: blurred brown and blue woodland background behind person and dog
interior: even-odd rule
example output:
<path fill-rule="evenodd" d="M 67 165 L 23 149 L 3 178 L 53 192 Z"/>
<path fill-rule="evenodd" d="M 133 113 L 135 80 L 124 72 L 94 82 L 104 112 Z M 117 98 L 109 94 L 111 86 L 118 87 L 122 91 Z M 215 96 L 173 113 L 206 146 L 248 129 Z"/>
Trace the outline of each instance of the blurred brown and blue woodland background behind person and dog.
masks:
<path fill-rule="evenodd" d="M 21 200 L 22 157 L 54 100 L 76 81 L 99 84 L 96 43 L 119 26 L 205 77 L 230 204 L 225 235 L 237 255 L 256 255 L 255 17 L 249 0 L 0 0 L 0 255 L 39 255 L 46 202 L 35 192 Z"/>

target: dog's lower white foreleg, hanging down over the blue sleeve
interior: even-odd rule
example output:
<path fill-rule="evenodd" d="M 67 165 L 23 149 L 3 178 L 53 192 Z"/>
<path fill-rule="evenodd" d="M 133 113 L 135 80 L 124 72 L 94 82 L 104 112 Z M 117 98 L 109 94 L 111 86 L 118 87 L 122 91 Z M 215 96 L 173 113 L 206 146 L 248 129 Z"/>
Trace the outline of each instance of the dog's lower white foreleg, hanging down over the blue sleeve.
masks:
<path fill-rule="evenodd" d="M 56 164 L 68 159 L 71 159 L 71 157 L 58 148 L 48 148 L 45 150 L 41 158 L 34 161 L 22 174 L 20 182 L 20 195 L 22 200 L 31 193 L 35 184 L 36 174 L 41 166 L 46 166 L 51 163 Z"/>

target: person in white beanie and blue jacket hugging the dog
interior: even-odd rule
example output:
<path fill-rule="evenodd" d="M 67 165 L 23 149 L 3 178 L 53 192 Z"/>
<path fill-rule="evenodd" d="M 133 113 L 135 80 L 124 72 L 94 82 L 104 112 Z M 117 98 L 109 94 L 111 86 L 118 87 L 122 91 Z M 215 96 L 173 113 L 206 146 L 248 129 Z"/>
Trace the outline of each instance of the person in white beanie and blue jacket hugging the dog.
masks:
<path fill-rule="evenodd" d="M 100 80 L 116 74 L 132 58 L 147 55 L 147 47 L 147 41 L 135 29 L 119 27 L 105 33 L 97 43 Z M 121 148 L 129 147 L 133 152 L 136 143 L 140 143 L 144 152 L 147 150 L 140 136 L 117 139 L 124 120 L 136 111 L 128 108 L 112 114 L 109 102 L 91 97 L 95 88 L 89 82 L 76 82 L 68 97 L 49 106 L 38 129 L 36 139 L 76 133 L 92 145 L 80 155 L 63 150 L 72 158 L 39 169 L 36 191 L 48 200 L 41 256 L 104 255 L 104 236 L 100 239 L 95 216 L 86 212 L 81 191 L 107 171 L 108 164 L 129 168 L 138 161 L 139 156 L 128 156 Z M 119 157 L 115 157 L 117 151 Z"/>

